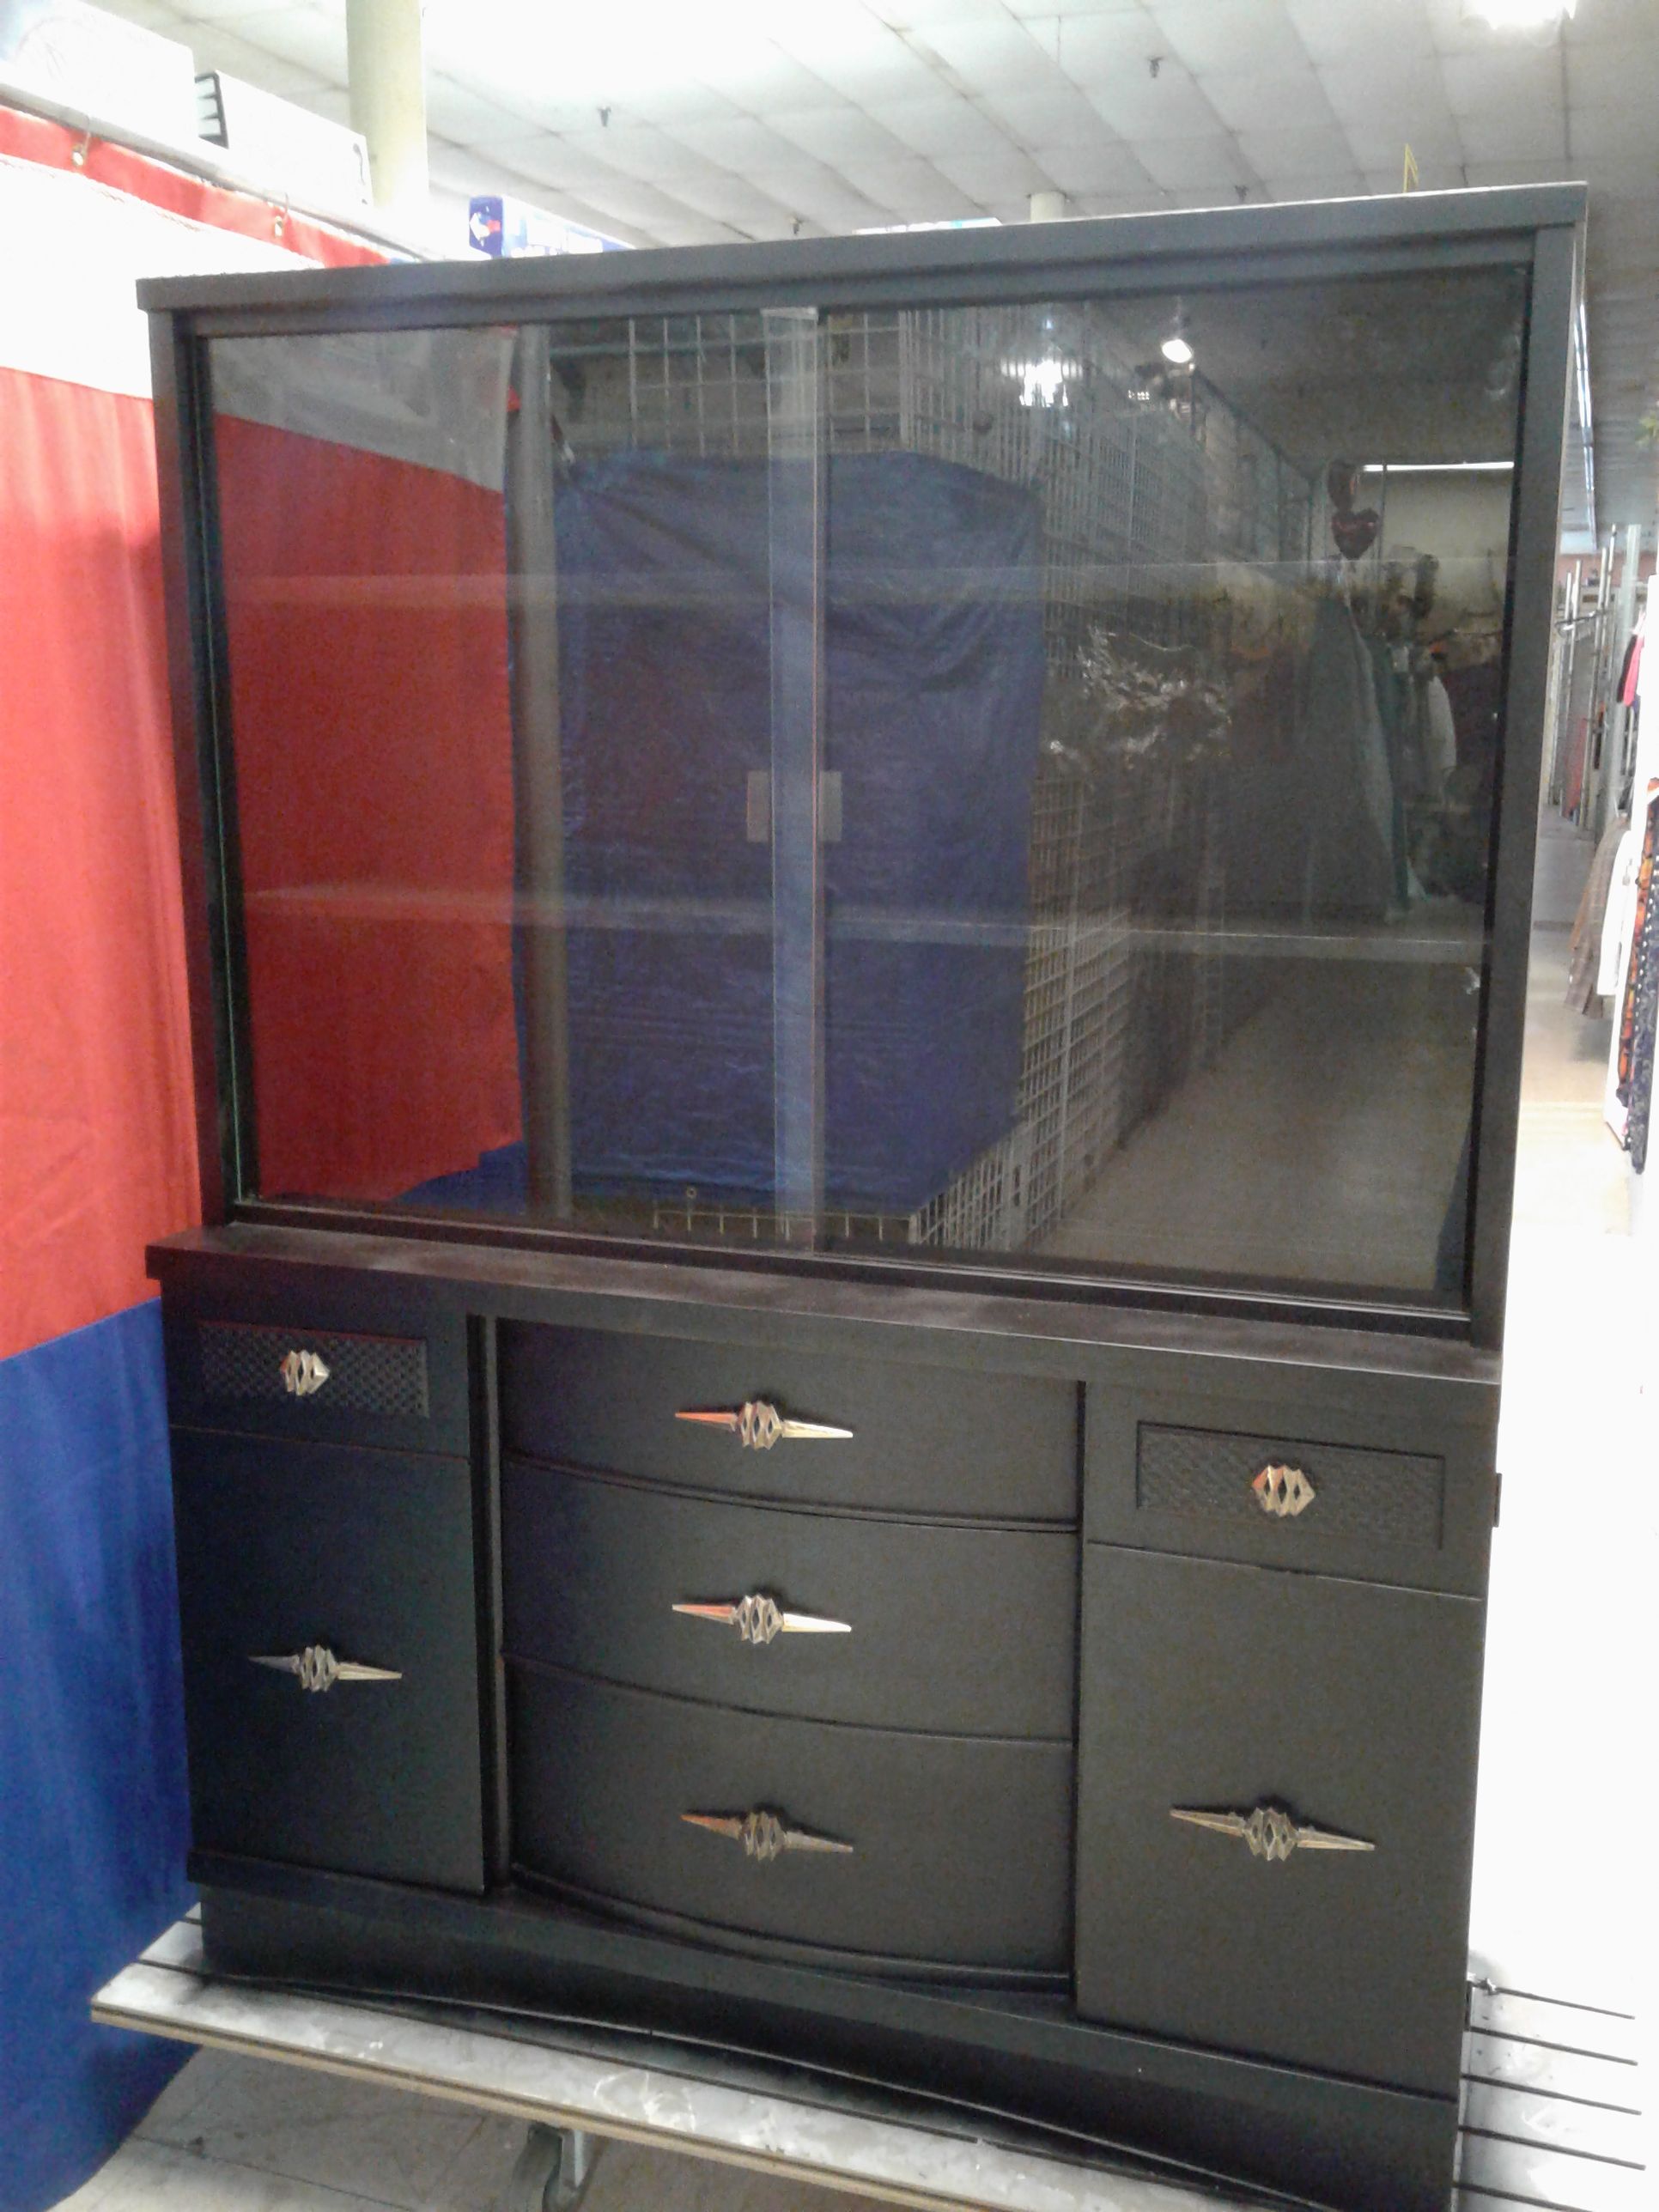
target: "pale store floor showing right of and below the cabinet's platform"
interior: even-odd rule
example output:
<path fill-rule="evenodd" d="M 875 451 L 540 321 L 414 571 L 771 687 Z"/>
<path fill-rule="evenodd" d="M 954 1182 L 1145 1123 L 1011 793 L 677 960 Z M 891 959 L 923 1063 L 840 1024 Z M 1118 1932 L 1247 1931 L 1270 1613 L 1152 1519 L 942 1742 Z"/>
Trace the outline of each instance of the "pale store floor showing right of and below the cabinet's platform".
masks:
<path fill-rule="evenodd" d="M 1628 1234 L 1626 1164 L 1601 1124 L 1608 1024 L 1562 1004 L 1586 867 L 1584 841 L 1546 832 L 1471 1942 L 1509 1989 L 1637 2013 L 1652 2051 L 1659 1248 Z M 64 2212 L 484 2212 L 520 2139 L 511 2121 L 201 2053 Z M 604 2152 L 584 2199 L 586 2212 L 836 2203 L 865 2208 L 630 2146 Z"/>

